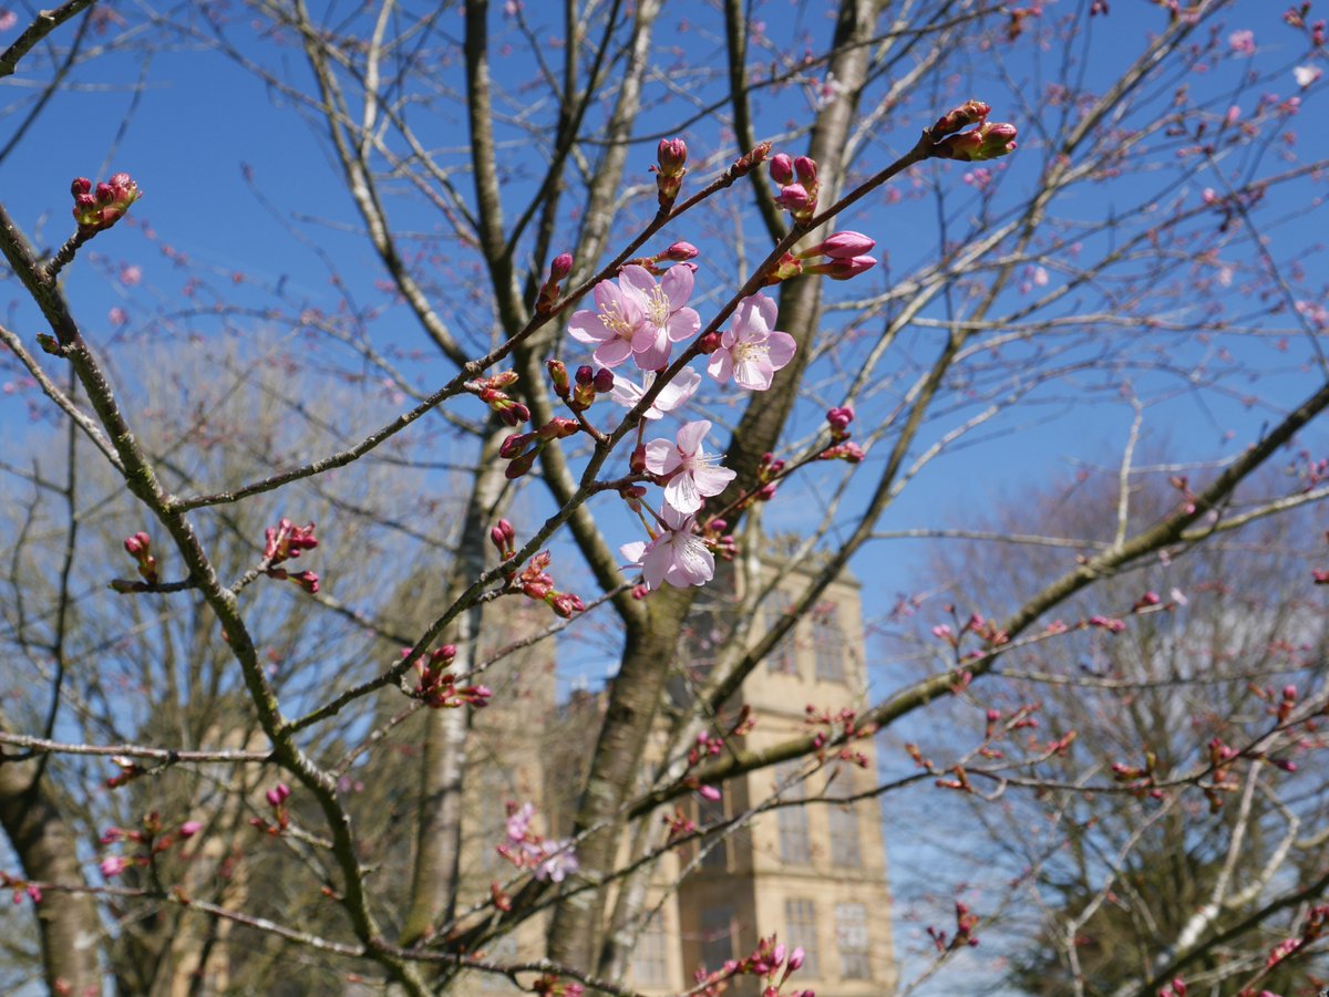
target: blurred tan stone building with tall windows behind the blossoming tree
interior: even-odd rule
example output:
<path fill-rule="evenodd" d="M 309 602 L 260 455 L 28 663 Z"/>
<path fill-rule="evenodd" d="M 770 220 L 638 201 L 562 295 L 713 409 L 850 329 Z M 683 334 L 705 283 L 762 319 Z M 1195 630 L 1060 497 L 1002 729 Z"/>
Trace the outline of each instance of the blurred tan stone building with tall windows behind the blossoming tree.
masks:
<path fill-rule="evenodd" d="M 694 669 L 691 678 L 696 681 L 704 680 L 707 670 L 706 635 L 731 632 L 723 619 L 726 605 L 743 595 L 742 583 L 732 574 L 727 577 L 727 584 L 716 584 L 712 591 L 730 595 L 720 595 L 720 601 L 699 616 L 699 649 L 682 665 Z M 750 643 L 788 611 L 805 583 L 799 570 L 787 570 L 784 577 L 766 571 L 762 577 L 769 591 L 751 621 Z M 815 611 L 760 662 L 738 701 L 727 708 L 732 713 L 747 705 L 758 718 L 735 746 L 759 749 L 808 733 L 808 705 L 832 713 L 861 706 L 867 688 L 864 647 L 859 585 L 845 577 L 833 583 Z M 570 816 L 570 801 L 560 798 L 560 789 L 578 782 L 571 775 L 589 750 L 586 738 L 598 729 L 603 697 L 574 693 L 558 709 L 558 718 L 545 722 L 536 714 L 553 712 L 552 662 L 517 661 L 508 674 L 521 686 L 520 696 L 504 705 L 506 697 L 500 693 L 496 706 L 478 714 L 476 750 L 488 753 L 490 765 L 504 759 L 508 774 L 496 778 L 517 794 L 508 798 L 537 802 L 557 827 Z M 676 682 L 675 697 L 686 696 L 683 690 L 695 684 Z M 664 710 L 649 751 L 649 770 L 667 762 L 667 714 Z M 542 731 L 542 739 L 533 735 L 536 730 Z M 869 737 L 855 742 L 853 750 L 865 757 L 865 767 L 839 761 L 820 767 L 791 762 L 724 783 L 716 802 L 694 795 L 683 805 L 698 824 L 720 824 L 723 830 L 666 854 L 649 878 L 630 879 L 610 896 L 606 931 L 617 932 L 630 951 L 625 977 L 629 986 L 645 994 L 679 993 L 694 984 L 699 965 L 715 969 L 728 959 L 742 959 L 759 937 L 775 932 L 791 948 L 801 947 L 807 953 L 797 981 L 815 989 L 817 997 L 886 997 L 894 992 L 890 896 L 877 801 L 869 795 L 855 803 L 841 802 L 870 793 L 877 785 L 876 747 Z M 474 763 L 484 765 L 478 758 Z M 493 842 L 501 839 L 504 798 L 496 797 L 492 781 L 482 782 L 488 802 L 477 801 L 476 807 L 485 810 L 472 826 L 477 827 L 477 846 L 488 856 L 470 859 L 477 896 L 496 875 L 493 863 L 502 862 L 493 855 Z M 657 814 L 629 828 L 625 859 L 658 847 L 662 839 L 663 824 Z M 538 933 L 537 925 L 526 925 L 492 955 L 534 955 L 540 951 Z M 512 988 L 488 977 L 477 978 L 476 989 Z M 728 993 L 750 997 L 759 990 L 755 981 L 738 980 Z"/>

